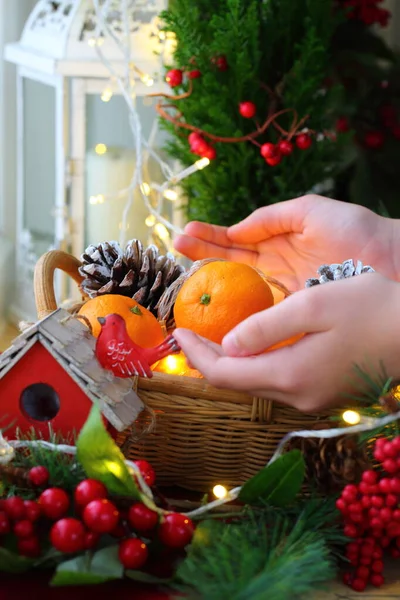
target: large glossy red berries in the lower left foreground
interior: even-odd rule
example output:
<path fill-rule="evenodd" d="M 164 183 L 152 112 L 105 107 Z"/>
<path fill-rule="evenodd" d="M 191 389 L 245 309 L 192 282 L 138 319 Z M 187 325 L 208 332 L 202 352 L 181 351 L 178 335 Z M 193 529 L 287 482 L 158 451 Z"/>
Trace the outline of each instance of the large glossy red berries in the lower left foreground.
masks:
<path fill-rule="evenodd" d="M 152 486 L 155 474 L 146 461 L 136 461 L 145 482 Z M 33 485 L 47 485 L 49 473 L 34 467 L 29 473 Z M 106 487 L 95 479 L 81 481 L 73 499 L 61 488 L 47 487 L 37 501 L 12 496 L 0 501 L 0 537 L 14 534 L 18 552 L 38 557 L 45 533 L 59 552 L 74 554 L 95 548 L 102 535 L 119 538 L 119 559 L 126 569 L 139 569 L 147 561 L 146 536 L 168 548 L 184 548 L 192 539 L 193 523 L 180 513 L 159 515 L 142 502 L 120 511 L 108 497 Z M 42 535 L 41 535 L 42 534 Z"/>

